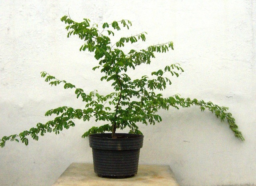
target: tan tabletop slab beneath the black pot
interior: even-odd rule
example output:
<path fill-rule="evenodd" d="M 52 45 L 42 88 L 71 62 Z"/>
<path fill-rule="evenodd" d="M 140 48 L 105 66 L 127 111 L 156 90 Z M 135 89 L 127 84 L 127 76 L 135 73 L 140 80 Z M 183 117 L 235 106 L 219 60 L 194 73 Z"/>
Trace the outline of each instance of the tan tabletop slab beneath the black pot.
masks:
<path fill-rule="evenodd" d="M 53 186 L 178 186 L 167 165 L 139 165 L 138 174 L 131 178 L 101 178 L 94 173 L 93 164 L 72 163 Z"/>

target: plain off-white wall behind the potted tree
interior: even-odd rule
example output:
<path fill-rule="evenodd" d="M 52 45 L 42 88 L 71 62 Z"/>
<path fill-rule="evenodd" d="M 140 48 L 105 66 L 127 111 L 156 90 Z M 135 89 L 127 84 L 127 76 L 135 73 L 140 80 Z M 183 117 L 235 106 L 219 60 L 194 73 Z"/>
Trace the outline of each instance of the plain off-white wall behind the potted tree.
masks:
<path fill-rule="evenodd" d="M 180 185 L 256 184 L 255 6 L 249 0 L 0 1 L 0 137 L 48 121 L 46 110 L 82 108 L 73 90 L 44 82 L 43 70 L 86 91 L 111 91 L 91 70 L 93 56 L 79 52 L 82 42 L 66 38 L 62 16 L 129 19 L 132 33 L 148 32 L 147 45 L 173 41 L 175 48 L 136 73 L 180 63 L 185 72 L 164 95 L 228 106 L 246 139 L 198 108 L 161 111 L 162 123 L 141 126 L 140 163 L 169 164 Z M 0 185 L 51 185 L 70 163 L 92 163 L 88 139 L 81 138 L 92 125 L 77 121 L 28 146 L 8 142 L 0 149 Z"/>

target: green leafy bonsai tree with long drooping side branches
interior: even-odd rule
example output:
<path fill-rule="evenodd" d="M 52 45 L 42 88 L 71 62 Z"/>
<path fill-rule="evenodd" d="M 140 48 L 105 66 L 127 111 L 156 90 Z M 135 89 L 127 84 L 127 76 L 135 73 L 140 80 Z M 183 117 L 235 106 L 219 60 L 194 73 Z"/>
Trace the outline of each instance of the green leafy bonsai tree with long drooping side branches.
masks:
<path fill-rule="evenodd" d="M 228 112 L 227 107 L 218 106 L 212 102 L 197 100 L 191 98 L 182 98 L 178 94 L 170 97 L 163 97 L 159 92 L 166 86 L 171 85 L 171 76 L 178 77 L 184 70 L 179 64 L 166 66 L 164 69 L 156 70 L 151 73 L 152 76 L 144 75 L 139 79 L 132 79 L 126 72 L 134 70 L 143 63 L 150 64 L 155 53 L 166 53 L 174 49 L 172 41 L 167 43 L 152 45 L 140 51 L 131 49 L 128 53 L 122 50 L 127 43 L 136 43 L 139 40 L 146 40 L 146 32 L 130 37 L 121 37 L 116 43 L 112 43 L 110 38 L 114 37 L 114 31 L 119 31 L 121 27 L 129 29 L 132 23 L 129 20 L 120 22 L 103 23 L 102 28 L 97 24 L 90 25 L 89 19 L 84 19 L 78 23 L 68 16 L 61 18 L 62 22 L 67 24 L 68 37 L 77 35 L 84 41 L 80 51 L 89 51 L 94 53 L 98 65 L 93 70 L 99 69 L 104 75 L 100 80 L 112 82 L 112 93 L 101 95 L 98 91 L 84 92 L 83 89 L 74 84 L 59 80 L 56 77 L 41 72 L 50 85 L 57 86 L 63 84 L 64 88 L 75 90 L 76 97 L 81 99 L 85 106 L 82 109 L 75 109 L 69 106 L 62 106 L 48 110 L 45 116 L 55 114 L 55 119 L 43 123 L 37 123 L 36 127 L 23 131 L 20 134 L 4 136 L 1 139 L 0 146 L 4 147 L 6 141 L 22 141 L 28 145 L 28 136 L 38 140 L 38 135 L 44 135 L 46 132 L 60 133 L 62 129 L 68 129 L 75 126 L 74 119 L 83 119 L 89 121 L 92 117 L 95 121 L 105 121 L 102 126 L 94 126 L 86 131 L 82 137 L 93 133 L 111 132 L 112 138 L 117 138 L 116 129 L 130 128 L 129 133 L 142 134 L 138 129 L 137 123 L 155 124 L 162 121 L 158 110 L 168 110 L 170 108 L 186 108 L 198 106 L 201 111 L 210 110 L 221 121 L 226 121 L 234 135 L 244 140 L 242 133 L 238 130 L 234 117 Z"/>

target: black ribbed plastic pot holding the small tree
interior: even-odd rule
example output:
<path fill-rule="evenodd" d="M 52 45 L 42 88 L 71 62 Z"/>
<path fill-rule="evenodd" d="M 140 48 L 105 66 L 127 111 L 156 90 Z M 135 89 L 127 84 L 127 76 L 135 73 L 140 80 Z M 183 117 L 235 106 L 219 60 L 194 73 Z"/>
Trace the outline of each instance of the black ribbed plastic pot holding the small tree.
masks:
<path fill-rule="evenodd" d="M 143 135 L 117 133 L 89 135 L 94 172 L 100 177 L 128 178 L 137 174 Z"/>

